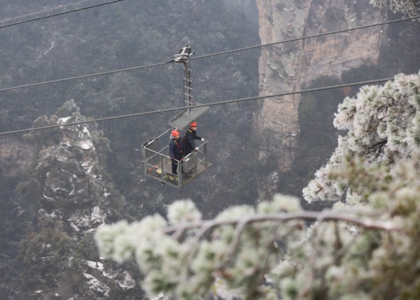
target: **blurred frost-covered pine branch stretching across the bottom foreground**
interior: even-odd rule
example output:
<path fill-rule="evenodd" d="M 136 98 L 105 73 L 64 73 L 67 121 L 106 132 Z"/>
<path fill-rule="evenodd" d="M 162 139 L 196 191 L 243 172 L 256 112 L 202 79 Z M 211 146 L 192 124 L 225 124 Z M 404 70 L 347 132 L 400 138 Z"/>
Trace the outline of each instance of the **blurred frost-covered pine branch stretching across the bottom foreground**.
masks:
<path fill-rule="evenodd" d="M 267 285 L 267 276 L 276 273 L 295 241 L 306 238 L 308 221 L 328 226 L 340 223 L 340 230 L 348 232 L 353 227 L 347 234 L 351 241 L 370 229 L 400 231 L 399 224 L 364 213 L 302 211 L 297 199 L 276 195 L 256 209 L 234 206 L 214 220 L 201 220 L 193 201 L 176 201 L 168 208 L 169 221 L 160 215 L 132 224 L 120 221 L 97 229 L 95 239 L 104 257 L 119 263 L 135 257 L 146 275 L 142 286 L 148 294 L 200 299 L 213 293 L 229 299 L 235 291 L 235 297 L 260 299 L 276 290 Z M 335 238 L 309 236 L 320 244 Z M 346 252 L 347 248 L 343 243 L 340 249 Z"/>

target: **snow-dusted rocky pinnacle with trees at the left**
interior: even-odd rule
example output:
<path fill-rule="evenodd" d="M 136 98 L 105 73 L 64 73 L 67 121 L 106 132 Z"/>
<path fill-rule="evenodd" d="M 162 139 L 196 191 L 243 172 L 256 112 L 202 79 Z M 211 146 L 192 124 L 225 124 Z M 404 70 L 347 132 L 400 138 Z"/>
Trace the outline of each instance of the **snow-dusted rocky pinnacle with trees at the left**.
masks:
<path fill-rule="evenodd" d="M 71 100 L 55 115 L 38 117 L 34 127 L 86 120 Z M 92 238 L 99 224 L 120 218 L 125 201 L 109 183 L 108 139 L 94 123 L 25 137 L 36 150 L 15 201 L 28 228 L 20 241 L 22 299 L 138 299 L 140 290 L 130 296 L 136 283 L 126 270 L 98 262 Z"/>

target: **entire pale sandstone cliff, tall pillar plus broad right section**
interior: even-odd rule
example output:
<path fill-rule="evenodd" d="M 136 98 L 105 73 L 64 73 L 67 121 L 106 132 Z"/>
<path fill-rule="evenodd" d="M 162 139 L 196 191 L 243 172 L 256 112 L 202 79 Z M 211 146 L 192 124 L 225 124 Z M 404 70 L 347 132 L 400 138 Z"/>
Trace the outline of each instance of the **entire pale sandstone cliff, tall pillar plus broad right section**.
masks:
<path fill-rule="evenodd" d="M 374 24 L 381 10 L 347 0 L 257 0 L 262 44 Z M 377 62 L 383 28 L 347 31 L 262 48 L 259 61 L 260 96 L 302 90 L 319 76 L 338 76 L 367 62 Z M 254 127 L 262 136 L 259 159 L 276 160 L 286 171 L 300 136 L 300 94 L 263 101 Z M 270 174 L 269 176 L 272 176 Z M 266 181 L 266 180 L 264 180 Z M 267 187 L 260 185 L 263 195 Z M 262 191 L 260 191 L 262 192 Z M 264 198 L 260 193 L 260 198 Z"/>

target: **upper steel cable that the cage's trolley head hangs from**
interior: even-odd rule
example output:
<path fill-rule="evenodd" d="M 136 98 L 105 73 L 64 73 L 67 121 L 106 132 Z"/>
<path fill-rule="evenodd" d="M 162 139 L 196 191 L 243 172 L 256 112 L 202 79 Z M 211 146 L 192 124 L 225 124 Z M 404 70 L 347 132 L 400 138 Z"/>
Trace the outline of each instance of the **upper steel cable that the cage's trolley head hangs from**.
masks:
<path fill-rule="evenodd" d="M 122 1 L 122 0 L 118 0 L 118 1 Z M 342 33 L 342 32 L 346 32 L 346 31 L 365 29 L 365 28 L 368 28 L 368 27 L 380 26 L 380 25 L 384 25 L 384 24 L 391 24 L 391 23 L 402 22 L 402 21 L 407 21 L 407 20 L 414 20 L 414 19 L 418 19 L 418 18 L 420 18 L 420 15 L 418 15 L 416 17 L 407 17 L 407 18 L 402 18 L 402 19 L 393 20 L 393 21 L 386 21 L 386 22 L 381 22 L 381 23 L 376 23 L 376 24 L 364 25 L 364 26 L 361 26 L 361 27 L 342 29 L 342 30 L 339 30 L 339 31 L 330 31 L 330 32 L 326 32 L 324 34 L 315 34 L 313 36 L 304 36 L 302 38 L 292 38 L 292 39 L 286 40 L 286 41 L 278 41 L 278 42 L 274 42 L 274 43 L 254 45 L 254 46 L 250 46 L 250 47 L 246 47 L 246 48 L 239 48 L 239 49 L 235 49 L 235 50 L 217 52 L 217 53 L 212 53 L 212 54 L 209 54 L 209 55 L 191 57 L 190 59 L 201 59 L 201 58 L 204 58 L 204 57 L 212 57 L 212 56 L 216 56 L 216 55 L 223 55 L 223 54 L 228 54 L 228 53 L 238 52 L 238 51 L 243 51 L 243 50 L 262 48 L 262 47 L 267 47 L 267 46 L 270 46 L 270 45 L 277 45 L 277 44 L 281 44 L 281 43 L 289 43 L 289 42 L 293 42 L 293 41 L 300 41 L 300 40 L 304 40 L 304 39 L 308 39 L 308 38 L 316 38 L 316 37 L 319 37 L 319 36 L 327 36 L 329 34 L 337 34 L 337 33 Z M 157 64 L 146 64 L 144 66 L 133 66 L 131 68 L 125 68 L 125 69 L 119 69 L 119 70 L 113 70 L 113 71 L 105 71 L 105 72 L 99 72 L 99 73 L 92 73 L 92 74 L 87 74 L 87 75 L 82 75 L 82 76 L 74 76 L 74 77 L 70 77 L 70 78 L 62 78 L 62 79 L 44 81 L 44 82 L 41 82 L 41 83 L 30 83 L 30 84 L 27 84 L 27 85 L 18 85 L 18 86 L 15 86 L 15 87 L 5 87 L 3 89 L 0 89 L 0 92 L 5 92 L 5 91 L 8 91 L 8 90 L 17 90 L 17 89 L 21 89 L 23 87 L 34 87 L 34 86 L 38 86 L 38 85 L 47 85 L 47 84 L 50 84 L 50 83 L 61 83 L 63 81 L 76 80 L 76 79 L 80 79 L 80 78 L 88 78 L 88 77 L 93 77 L 93 76 L 108 75 L 108 74 L 119 73 L 119 72 L 124 72 L 124 71 L 146 69 L 146 68 L 150 68 L 150 67 L 153 67 L 153 66 L 162 66 L 163 64 L 169 64 L 169 63 L 172 63 L 172 61 L 160 62 L 160 63 L 157 63 Z"/>

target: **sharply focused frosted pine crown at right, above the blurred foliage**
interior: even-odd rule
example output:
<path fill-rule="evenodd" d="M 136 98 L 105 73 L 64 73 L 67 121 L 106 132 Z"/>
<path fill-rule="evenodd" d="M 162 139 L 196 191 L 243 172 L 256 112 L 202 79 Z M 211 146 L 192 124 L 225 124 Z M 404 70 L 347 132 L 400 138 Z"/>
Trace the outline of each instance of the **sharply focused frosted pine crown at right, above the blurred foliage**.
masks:
<path fill-rule="evenodd" d="M 419 75 L 395 76 L 384 86 L 360 89 L 356 98 L 346 97 L 335 114 L 334 125 L 346 130 L 328 164 L 304 188 L 308 202 L 360 197 L 362 191 L 348 187 L 349 178 L 337 178 L 335 170 L 358 157 L 365 166 L 374 163 L 392 166 L 401 159 L 419 155 L 420 148 Z"/>

